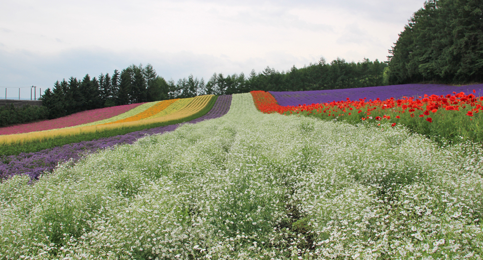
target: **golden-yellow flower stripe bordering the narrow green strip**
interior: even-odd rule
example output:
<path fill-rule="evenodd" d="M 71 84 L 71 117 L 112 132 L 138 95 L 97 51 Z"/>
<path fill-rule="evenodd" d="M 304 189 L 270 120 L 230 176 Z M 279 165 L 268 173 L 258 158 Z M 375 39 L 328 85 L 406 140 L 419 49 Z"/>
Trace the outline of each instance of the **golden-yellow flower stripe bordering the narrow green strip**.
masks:
<path fill-rule="evenodd" d="M 163 117 L 115 123 L 115 124 L 93 125 L 93 126 L 57 129 L 57 130 L 42 131 L 42 132 L 33 132 L 28 134 L 0 136 L 0 145 L 4 146 L 4 145 L 11 145 L 11 144 L 22 144 L 25 142 L 32 142 L 32 141 L 42 142 L 52 138 L 90 134 L 90 133 L 113 130 L 117 128 L 140 127 L 144 125 L 147 126 L 151 124 L 169 123 L 170 121 L 184 120 L 185 118 L 189 118 L 199 113 L 201 110 L 203 110 L 204 107 L 208 105 L 213 98 L 216 98 L 216 96 L 214 95 L 197 96 L 187 107 L 173 114 L 163 116 Z M 152 103 L 156 103 L 156 102 L 152 102 Z M 154 104 L 149 104 L 149 107 L 152 105 Z"/>

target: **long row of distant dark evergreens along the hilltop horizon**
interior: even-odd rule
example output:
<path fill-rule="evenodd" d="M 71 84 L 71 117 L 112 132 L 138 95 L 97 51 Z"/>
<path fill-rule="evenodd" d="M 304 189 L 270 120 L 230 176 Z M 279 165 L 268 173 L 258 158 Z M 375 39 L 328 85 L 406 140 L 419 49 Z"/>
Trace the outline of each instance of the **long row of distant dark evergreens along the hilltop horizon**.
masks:
<path fill-rule="evenodd" d="M 286 72 L 266 67 L 259 73 L 252 70 L 248 77 L 243 73 L 227 76 L 215 73 L 205 83 L 203 78 L 190 75 L 175 83 L 158 76 L 150 64 L 131 65 L 121 72 L 115 70 L 112 75 L 91 78 L 87 74 L 82 80 L 70 77 L 57 81 L 52 89 L 45 90 L 40 100 L 48 108 L 48 118 L 53 119 L 96 108 L 204 94 L 380 86 L 386 66 L 378 60 L 348 63 L 338 58 L 327 63 L 322 58 L 316 64 L 299 69 L 293 66 Z"/>

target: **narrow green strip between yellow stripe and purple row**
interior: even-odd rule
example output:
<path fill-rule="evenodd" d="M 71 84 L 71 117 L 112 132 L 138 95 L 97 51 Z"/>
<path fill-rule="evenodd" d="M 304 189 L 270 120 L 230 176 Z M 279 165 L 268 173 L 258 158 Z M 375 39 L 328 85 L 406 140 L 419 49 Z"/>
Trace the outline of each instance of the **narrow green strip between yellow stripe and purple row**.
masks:
<path fill-rule="evenodd" d="M 42 150 L 45 150 L 45 149 L 63 146 L 63 145 L 66 145 L 66 144 L 79 143 L 79 142 L 82 142 L 82 141 L 93 141 L 93 140 L 97 140 L 97 139 L 100 139 L 100 138 L 112 137 L 112 136 L 117 136 L 117 135 L 124 135 L 124 134 L 127 134 L 127 133 L 141 131 L 141 130 L 144 130 L 144 129 L 150 129 L 150 128 L 155 128 L 155 127 L 160 127 L 160 126 L 166 126 L 166 125 L 172 125 L 172 124 L 179 124 L 179 123 L 187 122 L 187 121 L 196 119 L 200 116 L 204 116 L 206 113 L 208 113 L 213 108 L 213 105 L 215 105 L 217 98 L 218 98 L 218 96 L 213 96 L 213 98 L 208 102 L 207 106 L 205 106 L 199 112 L 197 112 L 197 113 L 195 113 L 191 116 L 188 116 L 188 117 L 173 119 L 173 120 L 170 120 L 170 121 L 154 123 L 154 124 L 149 124 L 149 125 L 139 125 L 139 126 L 134 126 L 134 127 L 123 127 L 123 128 L 116 128 L 116 129 L 111 129 L 111 130 L 106 130 L 106 131 L 95 132 L 95 133 L 86 133 L 86 134 L 80 134 L 80 135 L 75 135 L 75 136 L 62 136 L 62 137 L 49 138 L 49 139 L 44 139 L 44 140 L 36 140 L 36 141 L 33 141 L 33 142 L 28 142 L 28 143 L 23 143 L 23 144 L 13 144 L 13 145 L 8 145 L 8 146 L 0 146 L 0 155 L 9 156 L 9 155 L 18 155 L 20 153 L 39 152 L 39 151 L 42 151 Z"/>

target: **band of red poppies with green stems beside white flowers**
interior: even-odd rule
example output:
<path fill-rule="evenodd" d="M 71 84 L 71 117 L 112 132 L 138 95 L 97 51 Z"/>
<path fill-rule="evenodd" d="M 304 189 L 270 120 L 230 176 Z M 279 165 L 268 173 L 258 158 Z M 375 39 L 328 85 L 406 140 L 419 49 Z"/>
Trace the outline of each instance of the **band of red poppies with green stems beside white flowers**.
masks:
<path fill-rule="evenodd" d="M 474 93 L 425 94 L 418 98 L 404 96 L 384 100 L 347 98 L 346 101 L 330 103 L 280 106 L 270 93 L 251 91 L 256 107 L 263 113 L 296 114 L 351 124 L 370 123 L 382 129 L 388 125 L 404 125 L 439 142 L 481 142 L 483 97 L 477 97 Z"/>

